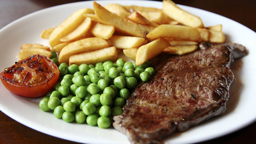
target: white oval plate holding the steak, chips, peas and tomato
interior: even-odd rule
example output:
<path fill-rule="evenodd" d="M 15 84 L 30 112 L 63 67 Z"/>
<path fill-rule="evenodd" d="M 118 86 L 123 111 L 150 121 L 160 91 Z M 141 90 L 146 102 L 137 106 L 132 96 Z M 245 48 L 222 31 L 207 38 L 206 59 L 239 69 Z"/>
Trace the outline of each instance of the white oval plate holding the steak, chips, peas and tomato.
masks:
<path fill-rule="evenodd" d="M 162 2 L 155 1 L 98 1 L 101 5 L 119 3 L 122 5 L 141 5 L 162 8 Z M 256 120 L 255 71 L 256 71 L 256 34 L 240 23 L 208 11 L 180 5 L 190 13 L 200 16 L 205 26 L 223 25 L 223 32 L 229 41 L 240 43 L 249 49 L 243 58 L 242 70 L 237 74 L 235 86 L 240 89 L 231 91 L 228 111 L 217 118 L 203 122 L 184 133 L 173 134 L 165 139 L 167 143 L 194 143 L 213 139 L 236 131 Z M 18 19 L 0 30 L 0 70 L 18 61 L 19 47 L 24 43 L 48 45 L 40 38 L 43 29 L 59 25 L 78 8 L 93 8 L 92 1 L 76 2 L 46 8 Z M 234 87 L 234 85 L 232 85 Z M 233 88 L 234 89 L 234 88 Z M 38 103 L 41 98 L 24 98 L 11 94 L 0 84 L 0 110 L 27 127 L 51 136 L 81 143 L 129 143 L 127 137 L 113 128 L 106 130 L 86 124 L 69 124 L 56 119 L 53 113 L 42 112 Z"/>

